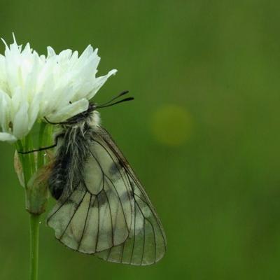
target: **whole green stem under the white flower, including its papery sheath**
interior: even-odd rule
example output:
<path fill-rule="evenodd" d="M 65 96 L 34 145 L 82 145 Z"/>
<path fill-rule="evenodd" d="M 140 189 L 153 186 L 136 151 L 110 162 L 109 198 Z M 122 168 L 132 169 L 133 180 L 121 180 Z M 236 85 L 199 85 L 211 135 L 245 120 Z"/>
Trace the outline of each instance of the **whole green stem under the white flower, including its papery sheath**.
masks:
<path fill-rule="evenodd" d="M 45 146 L 52 135 L 52 128 L 45 123 L 39 124 L 39 132 L 31 137 L 31 133 L 18 141 L 18 151 L 33 151 L 38 147 Z M 34 143 L 38 142 L 38 147 Z M 39 246 L 39 225 L 40 216 L 45 211 L 48 201 L 48 174 L 44 166 L 48 162 L 45 151 L 38 153 L 18 154 L 22 165 L 22 174 L 25 185 L 26 209 L 30 219 L 30 280 L 38 280 L 38 246 Z"/>

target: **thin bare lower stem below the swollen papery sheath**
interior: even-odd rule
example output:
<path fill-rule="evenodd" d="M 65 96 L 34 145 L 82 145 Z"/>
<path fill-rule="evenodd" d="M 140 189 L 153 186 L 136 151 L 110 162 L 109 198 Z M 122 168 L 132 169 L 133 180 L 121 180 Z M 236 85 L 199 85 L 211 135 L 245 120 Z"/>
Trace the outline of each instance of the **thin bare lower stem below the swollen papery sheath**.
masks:
<path fill-rule="evenodd" d="M 30 280 L 38 279 L 39 225 L 40 215 L 29 214 L 30 218 Z"/>

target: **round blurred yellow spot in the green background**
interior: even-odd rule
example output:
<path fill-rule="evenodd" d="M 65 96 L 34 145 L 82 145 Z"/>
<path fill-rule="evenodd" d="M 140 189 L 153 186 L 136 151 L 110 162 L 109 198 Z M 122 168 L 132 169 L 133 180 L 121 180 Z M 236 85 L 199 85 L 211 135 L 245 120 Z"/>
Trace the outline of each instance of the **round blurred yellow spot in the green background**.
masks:
<path fill-rule="evenodd" d="M 179 146 L 188 140 L 192 130 L 192 119 L 182 106 L 164 105 L 152 116 L 152 132 L 160 143 Z"/>

